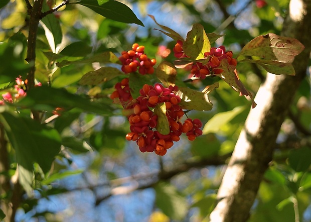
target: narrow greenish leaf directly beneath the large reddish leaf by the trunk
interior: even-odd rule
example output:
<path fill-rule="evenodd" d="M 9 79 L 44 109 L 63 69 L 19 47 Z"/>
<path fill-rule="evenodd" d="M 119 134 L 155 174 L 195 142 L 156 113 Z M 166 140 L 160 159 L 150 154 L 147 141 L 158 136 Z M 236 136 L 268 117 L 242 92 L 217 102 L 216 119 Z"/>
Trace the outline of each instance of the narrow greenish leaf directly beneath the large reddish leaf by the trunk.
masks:
<path fill-rule="evenodd" d="M 268 72 L 276 74 L 276 75 L 280 75 L 280 74 L 295 75 L 294 67 L 292 66 L 291 63 L 287 63 L 287 62 L 279 62 L 279 61 L 267 60 L 267 59 L 260 59 L 260 60 L 243 59 L 239 62 L 256 63 L 262 66 Z"/>

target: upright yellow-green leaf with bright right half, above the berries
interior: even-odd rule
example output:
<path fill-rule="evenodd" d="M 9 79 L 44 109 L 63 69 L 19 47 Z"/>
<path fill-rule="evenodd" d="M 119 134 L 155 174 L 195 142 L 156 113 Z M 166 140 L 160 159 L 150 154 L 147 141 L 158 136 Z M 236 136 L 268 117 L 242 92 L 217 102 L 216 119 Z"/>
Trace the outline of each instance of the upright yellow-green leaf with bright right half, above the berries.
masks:
<path fill-rule="evenodd" d="M 194 24 L 183 44 L 185 54 L 193 59 L 203 59 L 204 53 L 211 50 L 210 41 L 200 24 Z"/>

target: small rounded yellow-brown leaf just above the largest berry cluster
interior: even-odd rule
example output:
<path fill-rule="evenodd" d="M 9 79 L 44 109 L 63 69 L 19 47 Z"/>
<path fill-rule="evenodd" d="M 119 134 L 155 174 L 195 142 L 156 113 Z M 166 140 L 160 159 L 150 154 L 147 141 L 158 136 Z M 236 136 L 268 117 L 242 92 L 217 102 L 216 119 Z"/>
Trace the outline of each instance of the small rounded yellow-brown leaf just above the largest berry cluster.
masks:
<path fill-rule="evenodd" d="M 177 71 L 174 65 L 166 61 L 160 63 L 156 69 L 156 76 L 166 87 L 175 85 L 176 75 Z"/>

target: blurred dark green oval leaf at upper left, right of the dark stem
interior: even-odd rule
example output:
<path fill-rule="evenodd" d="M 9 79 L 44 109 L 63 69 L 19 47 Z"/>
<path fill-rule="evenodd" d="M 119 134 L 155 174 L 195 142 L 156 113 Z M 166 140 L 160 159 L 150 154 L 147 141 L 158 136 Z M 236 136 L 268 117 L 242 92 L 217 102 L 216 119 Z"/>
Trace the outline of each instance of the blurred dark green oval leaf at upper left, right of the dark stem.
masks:
<path fill-rule="evenodd" d="M 74 42 L 66 46 L 60 54 L 66 56 L 80 57 L 86 56 L 92 52 L 92 47 L 83 41 Z"/>

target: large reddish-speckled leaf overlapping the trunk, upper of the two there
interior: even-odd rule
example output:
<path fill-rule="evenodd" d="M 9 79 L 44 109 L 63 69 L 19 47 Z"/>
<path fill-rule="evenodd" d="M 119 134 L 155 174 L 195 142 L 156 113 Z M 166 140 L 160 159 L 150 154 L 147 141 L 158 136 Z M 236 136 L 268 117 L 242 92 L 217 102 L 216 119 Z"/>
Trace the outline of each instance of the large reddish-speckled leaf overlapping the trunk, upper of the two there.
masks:
<path fill-rule="evenodd" d="M 304 46 L 294 38 L 269 33 L 247 43 L 239 56 L 258 56 L 263 59 L 291 63 L 303 49 Z"/>

